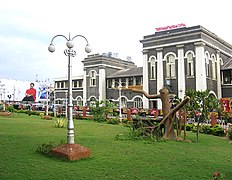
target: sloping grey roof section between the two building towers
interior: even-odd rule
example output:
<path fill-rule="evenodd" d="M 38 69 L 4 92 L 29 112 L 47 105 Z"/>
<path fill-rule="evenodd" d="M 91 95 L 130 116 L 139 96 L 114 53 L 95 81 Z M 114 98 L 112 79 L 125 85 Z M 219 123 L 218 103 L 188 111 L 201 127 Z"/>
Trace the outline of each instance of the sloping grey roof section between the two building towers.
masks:
<path fill-rule="evenodd" d="M 131 77 L 131 76 L 142 76 L 142 75 L 143 75 L 143 67 L 136 67 L 136 68 L 119 70 L 116 73 L 107 76 L 107 78 L 120 78 L 120 77 Z"/>

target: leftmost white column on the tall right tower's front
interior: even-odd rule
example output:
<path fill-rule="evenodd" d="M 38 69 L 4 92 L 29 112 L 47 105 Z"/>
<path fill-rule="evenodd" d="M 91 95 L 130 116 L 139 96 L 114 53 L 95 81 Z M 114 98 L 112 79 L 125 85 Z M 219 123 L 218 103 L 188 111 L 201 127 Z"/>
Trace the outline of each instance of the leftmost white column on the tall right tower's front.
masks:
<path fill-rule="evenodd" d="M 143 90 L 149 93 L 147 51 L 143 51 Z M 143 108 L 149 108 L 149 100 L 143 96 Z"/>

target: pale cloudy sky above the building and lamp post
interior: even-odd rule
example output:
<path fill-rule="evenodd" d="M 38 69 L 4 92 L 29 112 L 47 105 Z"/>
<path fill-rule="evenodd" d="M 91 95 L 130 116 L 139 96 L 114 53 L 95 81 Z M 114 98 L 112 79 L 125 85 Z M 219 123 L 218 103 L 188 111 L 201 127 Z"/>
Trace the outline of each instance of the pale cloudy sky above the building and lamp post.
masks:
<path fill-rule="evenodd" d="M 1 0 L 0 78 L 52 81 L 67 76 L 66 40 L 53 36 L 84 35 L 92 53 L 118 53 L 142 66 L 143 36 L 155 28 L 185 23 L 202 25 L 232 44 L 231 6 L 228 0 Z M 81 75 L 85 41 L 74 40 L 77 56 L 73 75 Z"/>

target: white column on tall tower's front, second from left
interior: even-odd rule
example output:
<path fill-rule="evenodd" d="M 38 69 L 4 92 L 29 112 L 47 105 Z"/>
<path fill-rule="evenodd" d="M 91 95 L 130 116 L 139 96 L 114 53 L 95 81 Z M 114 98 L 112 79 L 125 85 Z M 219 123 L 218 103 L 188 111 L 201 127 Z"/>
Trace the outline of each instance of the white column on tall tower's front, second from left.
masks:
<path fill-rule="evenodd" d="M 163 71 L 163 48 L 157 50 L 157 94 L 164 86 L 164 71 Z M 157 99 L 157 108 L 162 109 L 161 99 Z"/>

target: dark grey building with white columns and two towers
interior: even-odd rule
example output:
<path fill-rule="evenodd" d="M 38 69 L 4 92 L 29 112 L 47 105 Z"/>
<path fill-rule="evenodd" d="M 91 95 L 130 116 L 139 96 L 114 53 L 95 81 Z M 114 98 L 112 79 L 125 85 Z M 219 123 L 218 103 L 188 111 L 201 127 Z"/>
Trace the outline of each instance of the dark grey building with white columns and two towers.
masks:
<path fill-rule="evenodd" d="M 73 77 L 73 104 L 90 105 L 110 99 L 122 107 L 157 108 L 161 102 L 148 100 L 133 88 L 158 94 L 167 87 L 184 98 L 187 89 L 206 90 L 217 98 L 232 97 L 232 46 L 202 26 L 182 27 L 144 36 L 143 67 L 108 54 L 85 58 L 82 76 Z M 55 79 L 55 102 L 67 100 L 67 79 Z"/>

